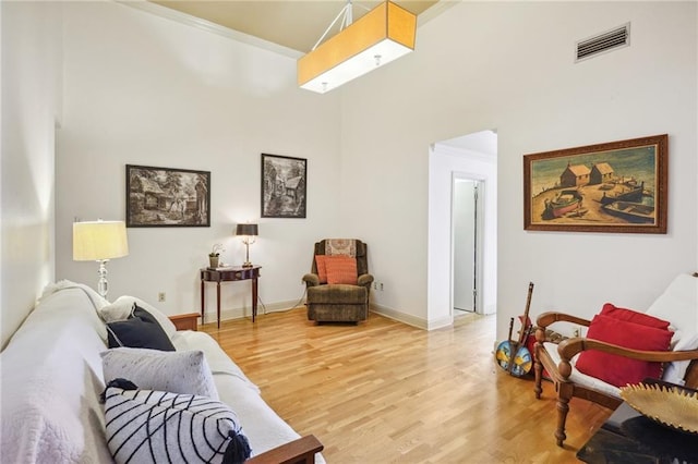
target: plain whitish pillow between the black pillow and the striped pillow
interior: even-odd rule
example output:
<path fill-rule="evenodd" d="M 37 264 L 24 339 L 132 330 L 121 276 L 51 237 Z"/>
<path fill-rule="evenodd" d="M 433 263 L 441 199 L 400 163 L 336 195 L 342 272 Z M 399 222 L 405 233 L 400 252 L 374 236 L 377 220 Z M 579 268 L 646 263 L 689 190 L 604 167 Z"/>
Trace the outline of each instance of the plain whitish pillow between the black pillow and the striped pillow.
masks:
<path fill-rule="evenodd" d="M 202 351 L 118 347 L 101 353 L 101 368 L 105 383 L 120 378 L 141 389 L 218 400 L 218 390 Z"/>

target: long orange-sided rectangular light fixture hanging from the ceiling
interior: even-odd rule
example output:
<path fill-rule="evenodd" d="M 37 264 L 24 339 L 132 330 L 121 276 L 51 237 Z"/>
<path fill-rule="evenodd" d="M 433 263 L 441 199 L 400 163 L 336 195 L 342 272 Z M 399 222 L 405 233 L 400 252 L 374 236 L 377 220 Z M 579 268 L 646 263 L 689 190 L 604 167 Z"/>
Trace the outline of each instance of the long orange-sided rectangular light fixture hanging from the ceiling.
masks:
<path fill-rule="evenodd" d="M 313 49 L 298 60 L 301 88 L 324 94 L 414 50 L 413 13 L 386 1 L 354 23 L 351 8 L 348 0 Z M 339 33 L 323 42 L 340 17 Z"/>

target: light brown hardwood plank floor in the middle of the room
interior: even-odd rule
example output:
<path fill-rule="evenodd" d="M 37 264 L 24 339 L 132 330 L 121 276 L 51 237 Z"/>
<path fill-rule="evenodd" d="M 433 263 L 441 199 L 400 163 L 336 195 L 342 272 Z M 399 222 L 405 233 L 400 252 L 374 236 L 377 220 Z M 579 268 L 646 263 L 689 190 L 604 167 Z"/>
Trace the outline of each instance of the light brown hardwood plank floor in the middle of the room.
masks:
<path fill-rule="evenodd" d="M 305 309 L 200 327 L 328 463 L 567 463 L 611 414 L 573 399 L 565 449 L 551 383 L 495 365 L 494 316 L 424 331 L 371 314 L 320 325 Z M 244 427 L 244 424 L 243 424 Z"/>

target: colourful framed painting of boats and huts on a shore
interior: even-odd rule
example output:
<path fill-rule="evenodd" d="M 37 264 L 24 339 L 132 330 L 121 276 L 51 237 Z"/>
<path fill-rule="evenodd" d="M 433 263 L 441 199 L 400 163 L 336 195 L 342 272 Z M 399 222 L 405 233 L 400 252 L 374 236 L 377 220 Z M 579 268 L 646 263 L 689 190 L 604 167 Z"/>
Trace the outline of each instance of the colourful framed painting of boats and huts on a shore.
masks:
<path fill-rule="evenodd" d="M 669 136 L 524 156 L 524 229 L 666 233 Z"/>

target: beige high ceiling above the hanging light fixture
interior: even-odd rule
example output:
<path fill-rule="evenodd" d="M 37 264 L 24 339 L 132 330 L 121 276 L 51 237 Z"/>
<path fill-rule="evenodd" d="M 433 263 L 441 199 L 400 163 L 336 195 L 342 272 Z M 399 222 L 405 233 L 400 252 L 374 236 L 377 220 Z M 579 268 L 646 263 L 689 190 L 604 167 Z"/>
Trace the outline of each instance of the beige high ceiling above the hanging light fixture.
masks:
<path fill-rule="evenodd" d="M 153 3 L 190 14 L 261 39 L 298 50 L 310 51 L 339 14 L 346 0 L 151 0 Z M 438 0 L 396 0 L 420 15 Z M 381 3 L 353 2 L 353 20 Z M 366 10 L 368 9 L 368 10 Z M 338 24 L 333 28 L 336 34 Z"/>

